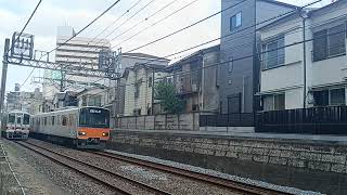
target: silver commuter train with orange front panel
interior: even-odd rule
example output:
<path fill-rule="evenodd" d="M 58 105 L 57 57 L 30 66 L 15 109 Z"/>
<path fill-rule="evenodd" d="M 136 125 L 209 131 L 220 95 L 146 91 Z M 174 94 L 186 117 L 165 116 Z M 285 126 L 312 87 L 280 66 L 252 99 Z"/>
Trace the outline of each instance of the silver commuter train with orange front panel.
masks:
<path fill-rule="evenodd" d="M 110 139 L 110 110 L 79 107 L 33 116 L 30 135 L 78 148 L 103 148 Z"/>

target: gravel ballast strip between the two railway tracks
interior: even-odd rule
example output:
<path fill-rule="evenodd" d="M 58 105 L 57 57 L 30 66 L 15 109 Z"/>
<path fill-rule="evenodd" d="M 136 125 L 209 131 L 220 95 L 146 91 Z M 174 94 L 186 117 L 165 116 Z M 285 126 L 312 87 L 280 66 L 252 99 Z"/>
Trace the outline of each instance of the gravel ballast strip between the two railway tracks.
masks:
<path fill-rule="evenodd" d="M 144 168 L 141 166 L 134 166 L 128 162 L 119 161 L 110 157 L 103 157 L 100 155 L 76 151 L 72 148 L 62 147 L 59 145 L 54 145 L 51 143 L 38 141 L 38 140 L 29 140 L 28 142 L 38 144 L 40 146 L 54 150 L 56 152 L 74 156 L 78 159 L 81 159 L 88 164 L 97 165 L 103 168 L 106 168 L 113 172 L 120 173 L 133 180 L 146 183 L 151 186 L 158 187 L 166 192 L 172 194 L 181 194 L 181 195 L 195 195 L 195 194 L 237 194 L 235 192 L 231 192 L 227 188 L 220 188 L 216 185 L 202 183 L 195 180 L 178 177 L 176 174 L 170 174 L 167 172 L 162 172 L 149 168 Z"/>

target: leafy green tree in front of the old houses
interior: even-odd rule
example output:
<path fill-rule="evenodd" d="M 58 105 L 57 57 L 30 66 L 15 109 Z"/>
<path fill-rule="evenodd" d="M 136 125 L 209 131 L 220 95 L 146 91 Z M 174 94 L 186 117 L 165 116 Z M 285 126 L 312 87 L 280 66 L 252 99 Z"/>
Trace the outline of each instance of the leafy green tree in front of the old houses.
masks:
<path fill-rule="evenodd" d="M 160 106 L 166 113 L 177 114 L 183 108 L 182 100 L 176 94 L 176 88 L 169 82 L 155 84 L 155 99 L 160 101 Z"/>

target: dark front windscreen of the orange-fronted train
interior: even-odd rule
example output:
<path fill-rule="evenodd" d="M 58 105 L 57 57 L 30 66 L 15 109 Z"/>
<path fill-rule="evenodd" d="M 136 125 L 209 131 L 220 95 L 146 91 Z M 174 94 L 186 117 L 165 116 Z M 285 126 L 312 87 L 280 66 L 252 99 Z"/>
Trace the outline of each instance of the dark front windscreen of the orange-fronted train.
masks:
<path fill-rule="evenodd" d="M 110 112 L 103 108 L 81 108 L 79 127 L 110 128 Z"/>

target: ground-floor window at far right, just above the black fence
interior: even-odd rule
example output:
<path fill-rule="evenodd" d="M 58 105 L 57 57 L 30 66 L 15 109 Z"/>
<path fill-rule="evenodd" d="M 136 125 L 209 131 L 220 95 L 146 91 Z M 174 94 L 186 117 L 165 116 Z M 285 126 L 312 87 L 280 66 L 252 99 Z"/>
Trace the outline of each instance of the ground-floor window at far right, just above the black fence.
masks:
<path fill-rule="evenodd" d="M 314 106 L 346 105 L 345 88 L 314 91 Z"/>

